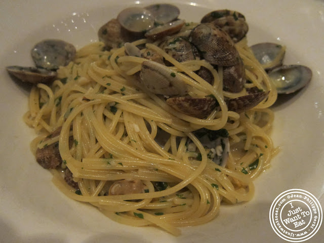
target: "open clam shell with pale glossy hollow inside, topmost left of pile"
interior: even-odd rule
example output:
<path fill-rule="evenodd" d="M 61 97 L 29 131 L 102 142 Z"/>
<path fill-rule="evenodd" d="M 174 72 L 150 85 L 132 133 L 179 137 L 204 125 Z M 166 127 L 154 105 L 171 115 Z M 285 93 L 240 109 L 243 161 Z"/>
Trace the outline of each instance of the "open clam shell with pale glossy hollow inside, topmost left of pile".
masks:
<path fill-rule="evenodd" d="M 152 13 L 144 8 L 127 8 L 121 11 L 117 20 L 126 30 L 134 33 L 142 33 L 154 27 Z"/>

